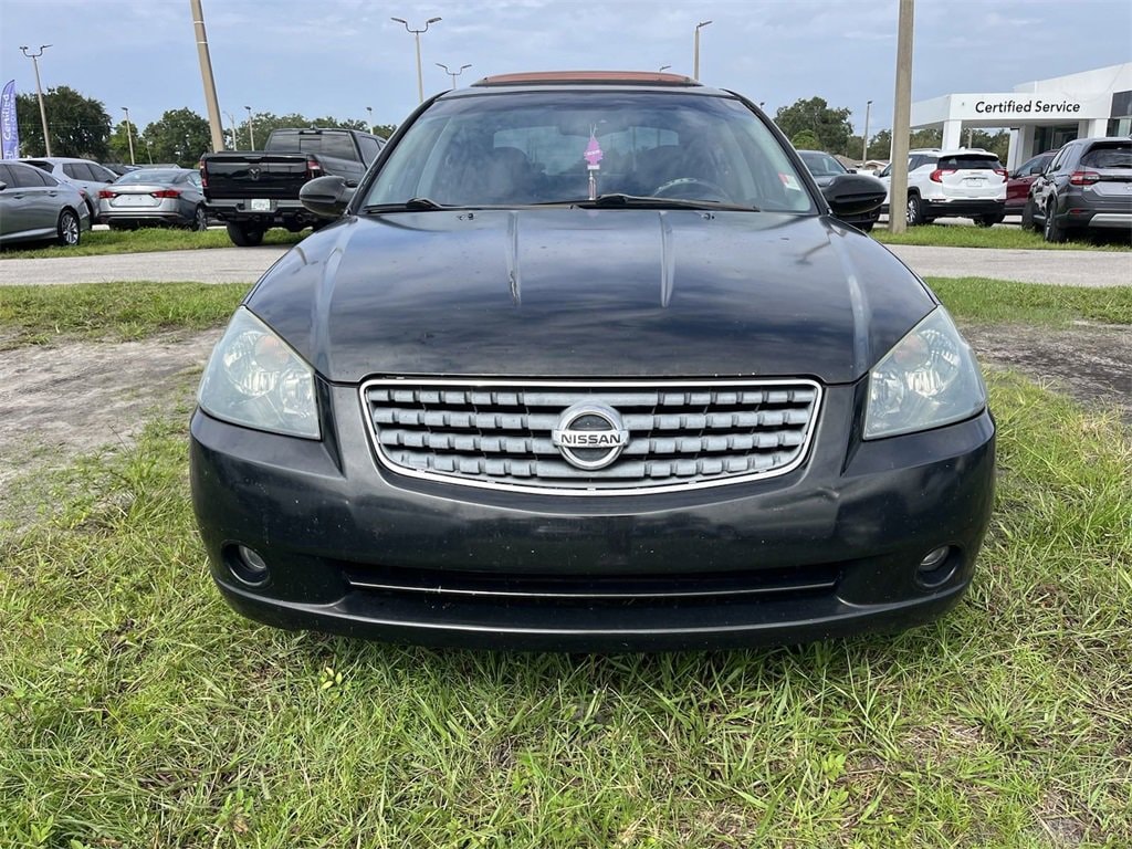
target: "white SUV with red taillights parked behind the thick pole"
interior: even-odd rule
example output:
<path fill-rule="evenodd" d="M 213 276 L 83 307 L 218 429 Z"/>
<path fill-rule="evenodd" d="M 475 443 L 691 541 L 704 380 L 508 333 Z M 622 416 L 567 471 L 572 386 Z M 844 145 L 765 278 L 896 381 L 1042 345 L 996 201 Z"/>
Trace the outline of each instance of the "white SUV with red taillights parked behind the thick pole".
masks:
<path fill-rule="evenodd" d="M 878 177 L 889 188 L 892 165 Z M 889 198 L 884 199 L 887 209 Z M 980 148 L 908 152 L 908 224 L 931 224 L 945 215 L 997 224 L 1006 214 L 1006 169 Z"/>

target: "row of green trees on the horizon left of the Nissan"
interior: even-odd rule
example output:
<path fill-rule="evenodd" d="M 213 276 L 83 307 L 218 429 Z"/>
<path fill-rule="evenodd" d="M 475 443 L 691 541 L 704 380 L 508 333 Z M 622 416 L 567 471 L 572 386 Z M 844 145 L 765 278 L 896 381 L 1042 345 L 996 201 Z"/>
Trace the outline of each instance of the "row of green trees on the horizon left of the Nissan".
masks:
<path fill-rule="evenodd" d="M 43 93 L 51 134 L 51 153 L 54 156 L 77 156 L 97 162 L 129 162 L 130 135 L 134 140 L 134 161 L 139 164 L 172 163 L 195 168 L 200 155 L 212 148 L 208 121 L 191 109 L 173 109 L 144 128 L 126 121 L 113 123 L 105 105 L 93 97 L 85 97 L 69 86 L 49 88 Z M 38 98 L 34 94 L 16 95 L 16 122 L 19 127 L 20 156 L 43 156 L 43 125 L 40 120 Z M 228 149 L 249 149 L 254 138 L 258 146 L 278 127 L 348 127 L 369 130 L 362 120 L 341 120 L 332 115 L 307 118 L 292 112 L 276 115 L 254 112 L 249 132 L 247 118 L 234 127 L 224 122 L 224 146 Z M 388 138 L 393 125 L 378 125 L 377 135 Z"/>

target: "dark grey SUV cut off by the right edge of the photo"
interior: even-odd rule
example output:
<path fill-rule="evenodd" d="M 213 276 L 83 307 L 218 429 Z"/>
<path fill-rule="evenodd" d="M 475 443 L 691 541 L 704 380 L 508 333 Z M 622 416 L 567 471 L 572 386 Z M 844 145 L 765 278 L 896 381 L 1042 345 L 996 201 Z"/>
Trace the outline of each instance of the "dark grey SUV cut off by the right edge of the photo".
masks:
<path fill-rule="evenodd" d="M 1061 242 L 1086 231 L 1132 231 L 1132 138 L 1079 138 L 1030 186 L 1022 226 Z"/>

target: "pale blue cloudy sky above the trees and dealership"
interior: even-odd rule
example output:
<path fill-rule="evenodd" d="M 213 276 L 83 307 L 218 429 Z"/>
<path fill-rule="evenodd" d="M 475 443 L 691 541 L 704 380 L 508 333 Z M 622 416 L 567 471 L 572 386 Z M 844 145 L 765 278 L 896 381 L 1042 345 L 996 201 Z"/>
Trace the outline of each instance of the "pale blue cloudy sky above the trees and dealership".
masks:
<path fill-rule="evenodd" d="M 481 76 L 616 68 L 692 72 L 765 102 L 799 97 L 852 110 L 860 130 L 891 125 L 897 0 L 203 0 L 216 89 L 237 120 L 254 111 L 398 123 L 417 105 L 414 27 L 424 92 L 451 79 L 437 62 Z M 0 0 L 0 85 L 67 85 L 145 126 L 169 109 L 205 114 L 189 0 Z M 912 97 L 1006 92 L 1034 79 L 1132 61 L 1127 0 L 918 0 Z"/>

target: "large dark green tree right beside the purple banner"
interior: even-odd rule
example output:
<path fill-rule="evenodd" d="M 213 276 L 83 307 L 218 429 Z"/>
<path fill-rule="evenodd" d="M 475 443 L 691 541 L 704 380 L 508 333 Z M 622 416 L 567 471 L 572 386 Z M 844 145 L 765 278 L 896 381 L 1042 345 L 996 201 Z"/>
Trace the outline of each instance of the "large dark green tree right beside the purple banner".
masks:
<path fill-rule="evenodd" d="M 43 94 L 53 156 L 79 156 L 104 160 L 110 152 L 110 115 L 102 101 L 84 97 L 74 88 L 59 86 Z M 22 156 L 45 156 L 43 122 L 35 94 L 16 95 L 16 122 L 19 126 Z"/>

